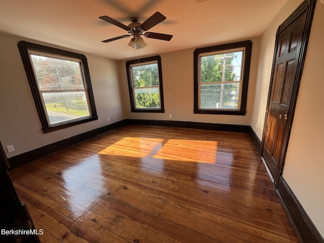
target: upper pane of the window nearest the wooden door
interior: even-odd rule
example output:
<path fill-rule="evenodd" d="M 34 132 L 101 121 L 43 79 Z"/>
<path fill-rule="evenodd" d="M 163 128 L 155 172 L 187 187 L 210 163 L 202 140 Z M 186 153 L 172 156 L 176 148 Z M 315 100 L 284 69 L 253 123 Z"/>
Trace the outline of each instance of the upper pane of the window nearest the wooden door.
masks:
<path fill-rule="evenodd" d="M 200 58 L 200 83 L 238 81 L 241 79 L 242 51 Z"/>

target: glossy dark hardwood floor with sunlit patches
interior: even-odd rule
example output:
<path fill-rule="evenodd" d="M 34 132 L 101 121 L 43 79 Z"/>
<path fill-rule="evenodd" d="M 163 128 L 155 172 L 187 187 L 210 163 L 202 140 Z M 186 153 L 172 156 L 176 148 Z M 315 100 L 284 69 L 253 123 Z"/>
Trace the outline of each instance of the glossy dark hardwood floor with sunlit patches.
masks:
<path fill-rule="evenodd" d="M 299 242 L 245 133 L 125 126 L 10 176 L 42 242 Z"/>

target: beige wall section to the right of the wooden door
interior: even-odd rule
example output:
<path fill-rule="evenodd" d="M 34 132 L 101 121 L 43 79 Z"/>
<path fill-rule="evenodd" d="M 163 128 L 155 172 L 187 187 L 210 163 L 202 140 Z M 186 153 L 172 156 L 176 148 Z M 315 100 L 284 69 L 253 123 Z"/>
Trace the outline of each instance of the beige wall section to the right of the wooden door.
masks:
<path fill-rule="evenodd" d="M 317 3 L 283 177 L 324 237 L 324 4 Z"/>

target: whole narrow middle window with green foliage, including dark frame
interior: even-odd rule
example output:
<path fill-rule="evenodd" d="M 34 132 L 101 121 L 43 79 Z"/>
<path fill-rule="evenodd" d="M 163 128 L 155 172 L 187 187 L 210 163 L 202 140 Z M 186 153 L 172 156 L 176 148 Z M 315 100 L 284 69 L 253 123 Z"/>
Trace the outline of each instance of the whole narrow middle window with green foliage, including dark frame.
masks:
<path fill-rule="evenodd" d="M 126 62 L 132 112 L 164 112 L 160 56 Z"/>

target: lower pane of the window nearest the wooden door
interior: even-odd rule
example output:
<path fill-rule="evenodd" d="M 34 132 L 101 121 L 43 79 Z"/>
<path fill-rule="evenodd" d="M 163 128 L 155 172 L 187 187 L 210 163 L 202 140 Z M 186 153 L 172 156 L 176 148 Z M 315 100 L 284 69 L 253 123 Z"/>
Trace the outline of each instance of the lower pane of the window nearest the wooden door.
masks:
<path fill-rule="evenodd" d="M 238 109 L 239 83 L 200 86 L 201 109 Z"/>

